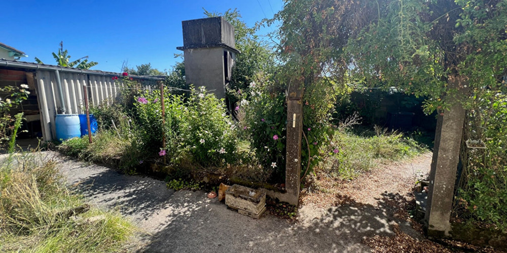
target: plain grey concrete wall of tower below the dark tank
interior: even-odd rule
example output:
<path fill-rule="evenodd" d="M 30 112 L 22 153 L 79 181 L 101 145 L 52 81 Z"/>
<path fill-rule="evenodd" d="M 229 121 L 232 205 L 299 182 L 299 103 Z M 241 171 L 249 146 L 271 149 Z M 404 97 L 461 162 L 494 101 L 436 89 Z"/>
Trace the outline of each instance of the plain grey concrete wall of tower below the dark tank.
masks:
<path fill-rule="evenodd" d="M 186 49 L 184 57 L 187 84 L 204 86 L 216 97 L 225 98 L 224 49 Z"/>

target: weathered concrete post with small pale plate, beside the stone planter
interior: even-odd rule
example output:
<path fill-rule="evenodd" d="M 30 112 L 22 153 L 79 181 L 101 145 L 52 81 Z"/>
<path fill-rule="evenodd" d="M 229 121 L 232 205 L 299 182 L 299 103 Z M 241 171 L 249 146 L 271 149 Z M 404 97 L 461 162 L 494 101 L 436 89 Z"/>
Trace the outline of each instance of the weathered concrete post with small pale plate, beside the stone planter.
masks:
<path fill-rule="evenodd" d="M 301 177 L 301 138 L 303 133 L 303 80 L 289 86 L 287 97 L 287 153 L 285 156 L 285 201 L 297 205 Z"/>

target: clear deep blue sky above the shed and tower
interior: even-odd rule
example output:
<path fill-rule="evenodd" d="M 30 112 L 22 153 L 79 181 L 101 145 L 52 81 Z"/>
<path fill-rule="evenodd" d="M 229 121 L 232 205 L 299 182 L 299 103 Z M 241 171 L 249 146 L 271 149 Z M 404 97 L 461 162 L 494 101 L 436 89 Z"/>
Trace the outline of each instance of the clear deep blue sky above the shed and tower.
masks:
<path fill-rule="evenodd" d="M 88 55 L 99 64 L 92 69 L 118 72 L 151 63 L 170 69 L 183 46 L 182 20 L 202 18 L 203 10 L 225 12 L 237 8 L 247 25 L 282 8 L 282 0 L 253 1 L 5 1 L 0 15 L 0 42 L 25 52 L 21 60 L 38 57 L 55 64 L 51 52 L 63 47 L 71 59 Z M 261 9 L 262 8 L 262 9 Z M 263 28 L 265 34 L 275 27 Z"/>

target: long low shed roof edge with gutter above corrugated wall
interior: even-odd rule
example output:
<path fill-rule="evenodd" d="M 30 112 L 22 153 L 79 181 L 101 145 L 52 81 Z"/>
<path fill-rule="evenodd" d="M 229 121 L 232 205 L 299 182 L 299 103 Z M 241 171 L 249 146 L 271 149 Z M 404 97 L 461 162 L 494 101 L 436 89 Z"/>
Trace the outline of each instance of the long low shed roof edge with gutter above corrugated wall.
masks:
<path fill-rule="evenodd" d="M 24 61 L 11 61 L 11 60 L 0 60 L 0 67 L 14 67 L 14 68 L 27 68 L 27 69 L 54 69 L 54 70 L 60 70 L 60 71 L 67 71 L 67 72 L 80 72 L 80 73 L 87 73 L 87 74 L 102 74 L 102 75 L 108 75 L 108 76 L 117 76 L 122 75 L 122 73 L 117 72 L 109 72 L 109 71 L 102 71 L 102 70 L 90 70 L 90 69 L 81 69 L 81 68 L 70 68 L 70 67 L 62 67 L 57 65 L 50 65 L 50 64 L 39 64 L 34 62 L 24 62 Z M 147 80 L 164 80 L 165 76 L 151 76 L 151 75 L 129 75 L 136 79 L 147 79 Z"/>

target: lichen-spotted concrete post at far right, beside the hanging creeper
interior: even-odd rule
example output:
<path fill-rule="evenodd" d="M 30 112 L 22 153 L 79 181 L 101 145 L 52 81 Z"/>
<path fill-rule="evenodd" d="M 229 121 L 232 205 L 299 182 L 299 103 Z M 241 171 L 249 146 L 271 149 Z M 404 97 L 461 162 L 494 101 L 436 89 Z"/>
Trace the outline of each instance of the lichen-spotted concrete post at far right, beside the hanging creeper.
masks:
<path fill-rule="evenodd" d="M 451 229 L 449 220 L 465 119 L 465 109 L 459 103 L 466 91 L 465 79 L 461 76 L 450 76 L 448 88 L 457 89 L 458 93 L 448 95 L 447 102 L 451 107 L 437 119 L 424 217 L 427 234 L 435 237 L 449 236 Z"/>

